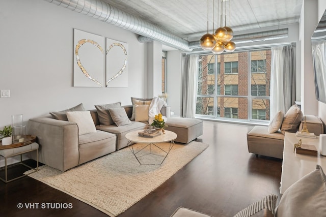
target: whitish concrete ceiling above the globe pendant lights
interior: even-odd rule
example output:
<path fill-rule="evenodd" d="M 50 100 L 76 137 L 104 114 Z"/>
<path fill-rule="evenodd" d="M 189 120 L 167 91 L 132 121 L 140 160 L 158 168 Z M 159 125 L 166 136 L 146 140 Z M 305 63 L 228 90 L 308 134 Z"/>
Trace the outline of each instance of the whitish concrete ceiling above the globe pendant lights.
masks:
<path fill-rule="evenodd" d="M 207 32 L 207 1 L 203 0 L 104 0 L 129 14 L 148 20 L 187 41 L 196 41 Z M 209 32 L 221 21 L 221 0 L 209 1 Z M 218 1 L 219 10 L 218 10 Z M 261 28 L 298 23 L 303 0 L 223 0 L 223 14 L 227 25 L 231 20 L 234 34 L 241 31 L 259 32 Z M 231 4 L 231 17 L 229 16 Z M 225 10 L 225 6 L 227 9 Z M 219 11 L 219 13 L 218 13 Z M 223 16 L 225 17 L 225 16 Z M 219 18 L 219 21 L 218 21 Z M 225 21 L 223 21 L 223 25 Z"/>

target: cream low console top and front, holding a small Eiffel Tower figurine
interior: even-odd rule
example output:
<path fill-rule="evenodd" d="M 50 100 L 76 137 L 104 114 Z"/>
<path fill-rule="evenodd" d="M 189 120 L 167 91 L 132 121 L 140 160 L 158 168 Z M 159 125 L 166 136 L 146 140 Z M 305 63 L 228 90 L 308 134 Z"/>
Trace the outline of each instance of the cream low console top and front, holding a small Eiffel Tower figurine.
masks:
<path fill-rule="evenodd" d="M 316 147 L 317 157 L 293 152 L 294 143 L 300 139 L 302 144 Z M 295 133 L 285 133 L 280 193 L 283 194 L 294 182 L 315 170 L 317 164 L 326 169 L 326 157 L 319 152 L 319 136 L 313 139 L 297 137 Z"/>

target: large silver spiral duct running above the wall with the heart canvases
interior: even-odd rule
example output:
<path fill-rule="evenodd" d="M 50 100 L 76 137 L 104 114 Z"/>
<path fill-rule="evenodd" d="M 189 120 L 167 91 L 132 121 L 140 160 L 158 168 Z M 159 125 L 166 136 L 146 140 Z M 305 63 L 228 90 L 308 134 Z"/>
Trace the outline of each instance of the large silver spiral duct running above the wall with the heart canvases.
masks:
<path fill-rule="evenodd" d="M 188 42 L 177 37 L 166 30 L 163 30 L 152 23 L 141 18 L 127 14 L 124 11 L 113 7 L 101 0 L 45 0 L 72 11 L 90 16 L 92 18 L 110 23 L 112 25 L 126 29 L 132 33 L 159 41 L 170 47 L 192 51 L 189 49 Z"/>

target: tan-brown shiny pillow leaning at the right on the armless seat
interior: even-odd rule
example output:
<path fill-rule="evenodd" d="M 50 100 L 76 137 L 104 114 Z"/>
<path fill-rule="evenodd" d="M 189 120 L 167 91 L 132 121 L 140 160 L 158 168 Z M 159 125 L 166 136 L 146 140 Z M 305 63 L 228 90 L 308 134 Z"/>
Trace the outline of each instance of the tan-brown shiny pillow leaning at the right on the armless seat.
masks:
<path fill-rule="evenodd" d="M 282 134 L 285 134 L 285 132 L 295 133 L 299 128 L 302 117 L 303 114 L 301 109 L 296 105 L 291 106 L 283 118 L 281 126 Z"/>

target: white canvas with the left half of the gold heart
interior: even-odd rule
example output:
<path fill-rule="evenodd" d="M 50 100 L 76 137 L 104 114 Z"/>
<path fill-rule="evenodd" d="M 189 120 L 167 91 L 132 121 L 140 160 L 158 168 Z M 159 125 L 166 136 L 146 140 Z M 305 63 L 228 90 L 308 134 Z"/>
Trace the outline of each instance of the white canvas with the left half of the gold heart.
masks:
<path fill-rule="evenodd" d="M 74 29 L 74 87 L 103 87 L 104 37 Z"/>

